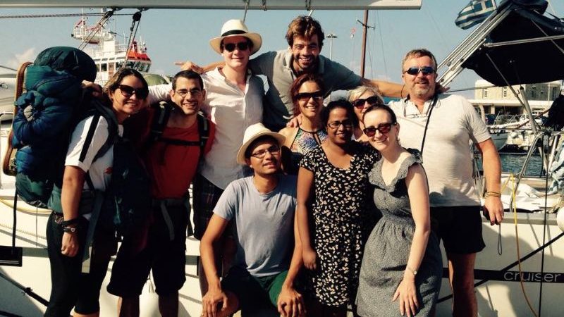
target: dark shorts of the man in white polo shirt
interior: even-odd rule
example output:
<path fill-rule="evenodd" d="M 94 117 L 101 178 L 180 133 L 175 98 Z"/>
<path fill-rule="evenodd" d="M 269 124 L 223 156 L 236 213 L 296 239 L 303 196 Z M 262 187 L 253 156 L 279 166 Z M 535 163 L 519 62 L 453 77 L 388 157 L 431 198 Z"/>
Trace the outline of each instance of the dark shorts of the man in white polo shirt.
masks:
<path fill-rule="evenodd" d="M 431 207 L 431 226 L 448 253 L 472 254 L 486 247 L 481 210 L 480 206 Z"/>

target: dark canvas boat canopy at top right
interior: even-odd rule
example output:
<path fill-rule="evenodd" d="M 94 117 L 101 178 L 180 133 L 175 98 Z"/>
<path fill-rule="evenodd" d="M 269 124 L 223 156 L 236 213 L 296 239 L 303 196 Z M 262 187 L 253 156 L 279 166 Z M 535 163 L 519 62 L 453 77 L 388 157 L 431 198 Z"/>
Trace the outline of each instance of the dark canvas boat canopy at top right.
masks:
<path fill-rule="evenodd" d="M 509 14 L 494 27 L 482 47 L 462 67 L 474 70 L 480 77 L 498 86 L 564 79 L 563 20 L 543 15 L 547 6 L 544 0 L 506 0 L 494 14 L 505 6 L 511 6 Z M 555 36 L 556 39 L 546 39 Z M 539 38 L 544 40 L 534 40 Z M 495 46 L 496 43 L 524 39 L 532 41 Z M 490 43 L 494 45 L 488 46 Z"/>

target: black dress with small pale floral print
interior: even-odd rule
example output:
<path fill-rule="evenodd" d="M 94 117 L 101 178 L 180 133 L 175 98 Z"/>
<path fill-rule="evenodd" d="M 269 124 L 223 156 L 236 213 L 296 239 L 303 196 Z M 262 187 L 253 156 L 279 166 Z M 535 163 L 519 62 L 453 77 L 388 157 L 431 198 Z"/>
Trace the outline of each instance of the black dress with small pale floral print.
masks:
<path fill-rule="evenodd" d="M 310 229 L 318 265 L 308 287 L 321 304 L 343 307 L 354 302 L 364 242 L 376 219 L 368 173 L 377 159 L 372 147 L 353 142 L 349 168 L 333 166 L 321 147 L 300 162 L 314 174 Z"/>

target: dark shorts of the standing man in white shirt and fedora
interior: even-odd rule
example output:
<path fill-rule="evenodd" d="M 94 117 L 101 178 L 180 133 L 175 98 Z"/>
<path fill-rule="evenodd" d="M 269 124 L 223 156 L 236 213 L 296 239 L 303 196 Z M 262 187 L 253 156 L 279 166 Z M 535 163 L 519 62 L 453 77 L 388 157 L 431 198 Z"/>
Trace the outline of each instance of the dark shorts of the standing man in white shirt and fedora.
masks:
<path fill-rule="evenodd" d="M 194 210 L 194 237 L 197 240 L 202 240 L 221 194 L 223 194 L 223 189 L 212 184 L 201 174 L 195 175 L 192 180 L 192 207 Z M 231 230 L 226 230 L 226 232 L 231 232 Z"/>

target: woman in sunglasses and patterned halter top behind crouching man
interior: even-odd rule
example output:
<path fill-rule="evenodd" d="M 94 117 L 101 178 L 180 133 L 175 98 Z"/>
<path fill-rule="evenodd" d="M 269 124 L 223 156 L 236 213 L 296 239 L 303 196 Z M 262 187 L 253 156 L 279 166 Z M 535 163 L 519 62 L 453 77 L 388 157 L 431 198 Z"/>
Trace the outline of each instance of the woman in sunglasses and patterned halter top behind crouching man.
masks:
<path fill-rule="evenodd" d="M 290 95 L 294 104 L 294 116 L 302 115 L 298 127 L 280 130 L 286 137 L 283 154 L 287 149 L 291 157 L 283 158 L 283 170 L 288 174 L 298 174 L 298 164 L 307 152 L 325 141 L 327 133 L 321 125 L 321 109 L 323 108 L 323 81 L 317 74 L 303 74 L 290 86 Z"/>

